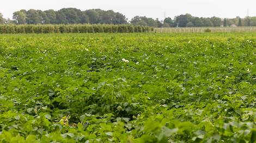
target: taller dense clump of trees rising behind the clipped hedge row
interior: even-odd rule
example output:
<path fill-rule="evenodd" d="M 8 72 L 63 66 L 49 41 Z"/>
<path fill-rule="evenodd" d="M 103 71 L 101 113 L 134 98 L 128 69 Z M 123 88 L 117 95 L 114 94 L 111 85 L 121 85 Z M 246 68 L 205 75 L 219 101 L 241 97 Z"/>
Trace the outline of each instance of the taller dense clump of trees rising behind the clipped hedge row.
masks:
<path fill-rule="evenodd" d="M 90 9 L 81 11 L 76 8 L 54 10 L 20 10 L 13 13 L 11 24 L 126 24 L 123 14 L 113 10 Z"/>

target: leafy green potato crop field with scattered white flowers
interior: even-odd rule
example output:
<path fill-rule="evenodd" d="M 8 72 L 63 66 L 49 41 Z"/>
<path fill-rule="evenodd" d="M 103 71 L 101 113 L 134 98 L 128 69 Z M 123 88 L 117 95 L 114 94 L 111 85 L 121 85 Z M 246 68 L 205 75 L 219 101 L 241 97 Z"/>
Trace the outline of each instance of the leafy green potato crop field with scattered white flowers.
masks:
<path fill-rule="evenodd" d="M 255 142 L 255 35 L 0 35 L 0 142 Z"/>

